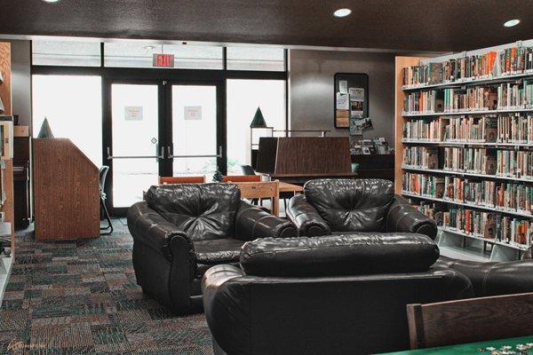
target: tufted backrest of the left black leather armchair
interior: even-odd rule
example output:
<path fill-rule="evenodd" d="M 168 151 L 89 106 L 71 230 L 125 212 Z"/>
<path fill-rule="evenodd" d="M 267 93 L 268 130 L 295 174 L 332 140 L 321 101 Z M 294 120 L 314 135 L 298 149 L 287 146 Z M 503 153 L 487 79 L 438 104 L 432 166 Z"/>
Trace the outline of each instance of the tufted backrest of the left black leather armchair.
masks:
<path fill-rule="evenodd" d="M 151 209 L 187 233 L 191 241 L 235 236 L 241 192 L 233 184 L 155 185 L 145 194 Z"/>

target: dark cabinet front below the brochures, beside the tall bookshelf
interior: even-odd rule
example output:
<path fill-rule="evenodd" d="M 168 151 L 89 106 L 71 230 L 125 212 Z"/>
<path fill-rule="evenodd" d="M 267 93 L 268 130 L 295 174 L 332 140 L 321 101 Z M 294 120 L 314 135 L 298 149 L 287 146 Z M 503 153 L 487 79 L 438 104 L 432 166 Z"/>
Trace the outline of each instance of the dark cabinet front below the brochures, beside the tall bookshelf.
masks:
<path fill-rule="evenodd" d="M 394 181 L 394 154 L 354 154 L 357 178 L 385 178 Z"/>

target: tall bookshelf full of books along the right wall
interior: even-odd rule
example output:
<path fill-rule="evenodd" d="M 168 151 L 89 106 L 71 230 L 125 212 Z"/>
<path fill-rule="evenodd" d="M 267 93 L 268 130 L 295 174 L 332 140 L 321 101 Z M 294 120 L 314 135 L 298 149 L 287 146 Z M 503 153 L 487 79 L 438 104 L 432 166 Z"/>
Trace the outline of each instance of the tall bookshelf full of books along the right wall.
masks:
<path fill-rule="evenodd" d="M 443 254 L 505 261 L 531 247 L 531 83 L 533 40 L 396 57 L 394 188 L 434 217 Z"/>

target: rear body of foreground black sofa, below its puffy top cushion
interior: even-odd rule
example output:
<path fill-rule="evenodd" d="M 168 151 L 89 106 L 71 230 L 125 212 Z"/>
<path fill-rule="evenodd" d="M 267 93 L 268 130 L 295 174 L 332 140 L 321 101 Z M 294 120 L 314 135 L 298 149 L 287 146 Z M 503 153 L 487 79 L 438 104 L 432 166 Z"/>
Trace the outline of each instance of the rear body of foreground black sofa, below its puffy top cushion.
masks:
<path fill-rule="evenodd" d="M 470 281 L 454 270 L 314 278 L 249 276 L 236 269 L 232 278 L 231 270 L 215 266 L 203 280 L 205 318 L 228 354 L 405 351 L 407 304 L 472 296 Z"/>

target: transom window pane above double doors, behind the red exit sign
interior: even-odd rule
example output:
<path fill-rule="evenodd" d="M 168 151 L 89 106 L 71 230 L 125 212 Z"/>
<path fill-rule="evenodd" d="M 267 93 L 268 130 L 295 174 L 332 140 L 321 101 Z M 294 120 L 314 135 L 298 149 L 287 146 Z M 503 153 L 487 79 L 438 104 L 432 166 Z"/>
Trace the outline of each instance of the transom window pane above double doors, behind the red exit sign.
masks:
<path fill-rule="evenodd" d="M 154 54 L 174 54 L 174 68 L 222 69 L 222 47 L 184 44 L 105 43 L 106 67 L 154 67 Z"/>

